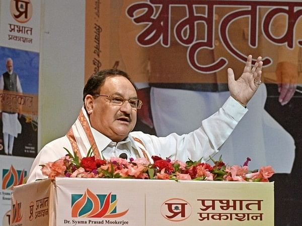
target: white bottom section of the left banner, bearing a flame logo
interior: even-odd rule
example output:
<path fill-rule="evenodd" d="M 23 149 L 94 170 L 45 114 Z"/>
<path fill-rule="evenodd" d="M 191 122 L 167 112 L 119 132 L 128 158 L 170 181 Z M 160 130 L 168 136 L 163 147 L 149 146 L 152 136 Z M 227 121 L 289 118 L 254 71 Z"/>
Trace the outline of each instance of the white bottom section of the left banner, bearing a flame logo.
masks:
<path fill-rule="evenodd" d="M 13 186 L 26 183 L 33 158 L 1 156 L 0 158 L 0 225 L 10 225 Z M 2 224 L 1 224 L 2 223 Z"/>

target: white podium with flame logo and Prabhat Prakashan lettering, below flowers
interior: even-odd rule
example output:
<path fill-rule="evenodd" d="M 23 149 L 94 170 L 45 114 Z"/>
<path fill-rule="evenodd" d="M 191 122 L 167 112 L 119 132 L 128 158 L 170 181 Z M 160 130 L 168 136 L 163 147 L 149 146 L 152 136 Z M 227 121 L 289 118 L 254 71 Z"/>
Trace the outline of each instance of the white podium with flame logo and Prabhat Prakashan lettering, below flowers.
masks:
<path fill-rule="evenodd" d="M 12 192 L 11 225 L 274 225 L 273 182 L 56 178 Z"/>

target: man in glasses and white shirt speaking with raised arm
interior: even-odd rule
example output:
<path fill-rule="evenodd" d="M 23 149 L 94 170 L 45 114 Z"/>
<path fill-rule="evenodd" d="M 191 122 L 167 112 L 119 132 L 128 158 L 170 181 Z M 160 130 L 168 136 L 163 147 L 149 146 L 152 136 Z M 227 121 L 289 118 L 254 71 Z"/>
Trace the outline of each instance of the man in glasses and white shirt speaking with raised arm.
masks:
<path fill-rule="evenodd" d="M 97 159 L 115 156 L 129 160 L 144 157 L 152 162 L 151 156 L 157 155 L 181 161 L 201 158 L 206 161 L 219 151 L 246 114 L 246 105 L 261 84 L 262 64 L 261 57 L 258 57 L 252 66 L 252 56 L 249 55 L 244 71 L 237 80 L 233 70 L 229 68 L 228 85 L 231 96 L 223 106 L 203 120 L 197 130 L 181 136 L 174 133 L 167 137 L 131 132 L 136 124 L 137 110 L 142 104 L 137 99 L 133 83 L 120 70 L 97 72 L 85 85 L 84 106 L 77 121 L 64 137 L 48 143 L 39 152 L 28 182 L 46 178 L 39 165 L 65 156 L 67 153 L 64 148 L 72 150 L 80 159 L 93 147 L 93 154 Z M 171 99 L 171 104 L 178 104 L 177 99 Z"/>

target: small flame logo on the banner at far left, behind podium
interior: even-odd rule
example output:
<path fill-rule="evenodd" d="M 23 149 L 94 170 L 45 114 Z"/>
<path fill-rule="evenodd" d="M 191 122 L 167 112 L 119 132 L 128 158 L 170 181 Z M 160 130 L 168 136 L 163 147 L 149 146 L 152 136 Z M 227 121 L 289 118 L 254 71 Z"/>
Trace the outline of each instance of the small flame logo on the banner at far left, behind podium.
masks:
<path fill-rule="evenodd" d="M 13 186 L 24 183 L 27 172 L 24 170 L 16 170 L 12 165 L 9 170 L 3 169 L 2 174 L 2 189 L 12 190 Z"/>

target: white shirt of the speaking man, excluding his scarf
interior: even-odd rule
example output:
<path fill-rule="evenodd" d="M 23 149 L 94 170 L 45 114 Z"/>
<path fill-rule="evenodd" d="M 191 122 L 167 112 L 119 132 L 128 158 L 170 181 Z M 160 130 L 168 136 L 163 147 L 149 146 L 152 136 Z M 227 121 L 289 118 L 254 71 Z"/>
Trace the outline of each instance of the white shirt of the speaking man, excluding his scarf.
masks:
<path fill-rule="evenodd" d="M 199 160 L 201 158 L 207 160 L 209 156 L 218 152 L 221 145 L 228 139 L 247 111 L 247 108 L 244 108 L 235 99 L 230 97 L 215 114 L 203 120 L 201 126 L 189 134 L 179 136 L 173 133 L 167 137 L 156 137 L 142 132 L 131 132 L 129 139 L 132 145 L 128 146 L 128 151 L 132 157 L 135 157 L 131 148 L 135 149 L 136 147 L 132 139 L 132 137 L 135 137 L 143 142 L 149 156 L 157 155 L 162 158 L 169 157 L 181 161 L 187 161 L 188 159 Z M 108 146 L 112 144 L 111 140 L 104 138 L 102 141 L 99 141 L 98 138 L 100 139 L 100 136 L 96 136 L 95 133 L 93 134 L 98 150 L 100 152 L 107 152 L 108 154 Z M 63 147 L 72 150 L 66 136 L 45 145 L 32 165 L 28 182 L 46 178 L 42 175 L 41 166 L 39 165 L 53 162 L 66 155 Z M 112 156 L 116 156 L 113 151 L 114 149 L 112 149 Z M 81 153 L 82 156 L 85 156 L 87 151 L 86 153 Z"/>

